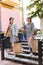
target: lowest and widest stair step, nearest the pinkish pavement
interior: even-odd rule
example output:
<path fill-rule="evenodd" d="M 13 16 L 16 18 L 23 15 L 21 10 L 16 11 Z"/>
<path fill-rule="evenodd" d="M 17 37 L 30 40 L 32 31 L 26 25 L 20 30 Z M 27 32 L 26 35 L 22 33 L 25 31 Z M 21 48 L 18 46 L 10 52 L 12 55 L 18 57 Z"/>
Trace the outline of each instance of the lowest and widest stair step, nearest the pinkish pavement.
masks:
<path fill-rule="evenodd" d="M 24 64 L 30 64 L 30 65 L 38 65 L 38 61 L 34 61 L 34 60 L 29 60 L 29 59 L 23 59 L 23 58 L 12 58 L 12 57 L 5 57 L 5 59 L 7 60 L 11 60 L 11 61 L 16 61 L 16 62 L 20 62 L 20 63 L 24 63 Z"/>

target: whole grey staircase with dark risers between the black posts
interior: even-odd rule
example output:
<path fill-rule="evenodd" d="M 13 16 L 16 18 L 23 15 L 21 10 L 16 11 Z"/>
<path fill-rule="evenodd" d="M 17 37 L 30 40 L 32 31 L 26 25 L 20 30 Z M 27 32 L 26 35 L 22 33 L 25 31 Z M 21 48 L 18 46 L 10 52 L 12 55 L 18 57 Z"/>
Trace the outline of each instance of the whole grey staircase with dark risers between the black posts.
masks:
<path fill-rule="evenodd" d="M 30 56 L 30 50 L 28 48 L 27 42 L 22 42 L 22 48 L 23 53 L 16 55 L 15 58 L 12 55 L 5 55 L 5 59 L 26 65 L 38 65 L 38 52 L 33 53 L 33 55 Z"/>

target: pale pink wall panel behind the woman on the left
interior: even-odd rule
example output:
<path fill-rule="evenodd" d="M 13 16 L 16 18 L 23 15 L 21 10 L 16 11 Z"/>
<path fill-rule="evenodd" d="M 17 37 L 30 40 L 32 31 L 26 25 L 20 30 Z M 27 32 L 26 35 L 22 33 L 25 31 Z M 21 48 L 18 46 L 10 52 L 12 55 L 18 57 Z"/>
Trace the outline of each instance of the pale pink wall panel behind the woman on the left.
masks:
<path fill-rule="evenodd" d="M 1 25 L 2 25 L 2 31 L 4 32 L 6 32 L 6 29 L 9 25 L 10 17 L 15 18 L 14 22 L 17 24 L 18 28 L 22 27 L 22 16 L 20 11 L 1 7 Z"/>

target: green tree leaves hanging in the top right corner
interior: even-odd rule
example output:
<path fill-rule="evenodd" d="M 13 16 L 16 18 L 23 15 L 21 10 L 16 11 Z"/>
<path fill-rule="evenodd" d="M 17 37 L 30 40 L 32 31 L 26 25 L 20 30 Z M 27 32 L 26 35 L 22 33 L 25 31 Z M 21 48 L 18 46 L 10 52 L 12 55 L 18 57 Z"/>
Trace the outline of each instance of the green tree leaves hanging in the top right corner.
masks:
<path fill-rule="evenodd" d="M 27 6 L 27 10 L 32 9 L 33 7 L 36 9 L 36 11 L 31 11 L 31 13 L 28 13 L 31 17 L 39 16 L 40 18 L 43 17 L 43 0 L 31 0 L 31 3 L 29 6 Z"/>

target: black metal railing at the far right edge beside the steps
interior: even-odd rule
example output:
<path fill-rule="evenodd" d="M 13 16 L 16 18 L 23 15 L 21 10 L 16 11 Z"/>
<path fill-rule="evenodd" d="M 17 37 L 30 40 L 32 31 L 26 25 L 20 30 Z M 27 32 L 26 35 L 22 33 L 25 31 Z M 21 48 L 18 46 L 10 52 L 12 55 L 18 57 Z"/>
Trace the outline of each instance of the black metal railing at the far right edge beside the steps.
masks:
<path fill-rule="evenodd" d="M 43 40 L 38 41 L 38 61 L 39 65 L 43 65 Z"/>

